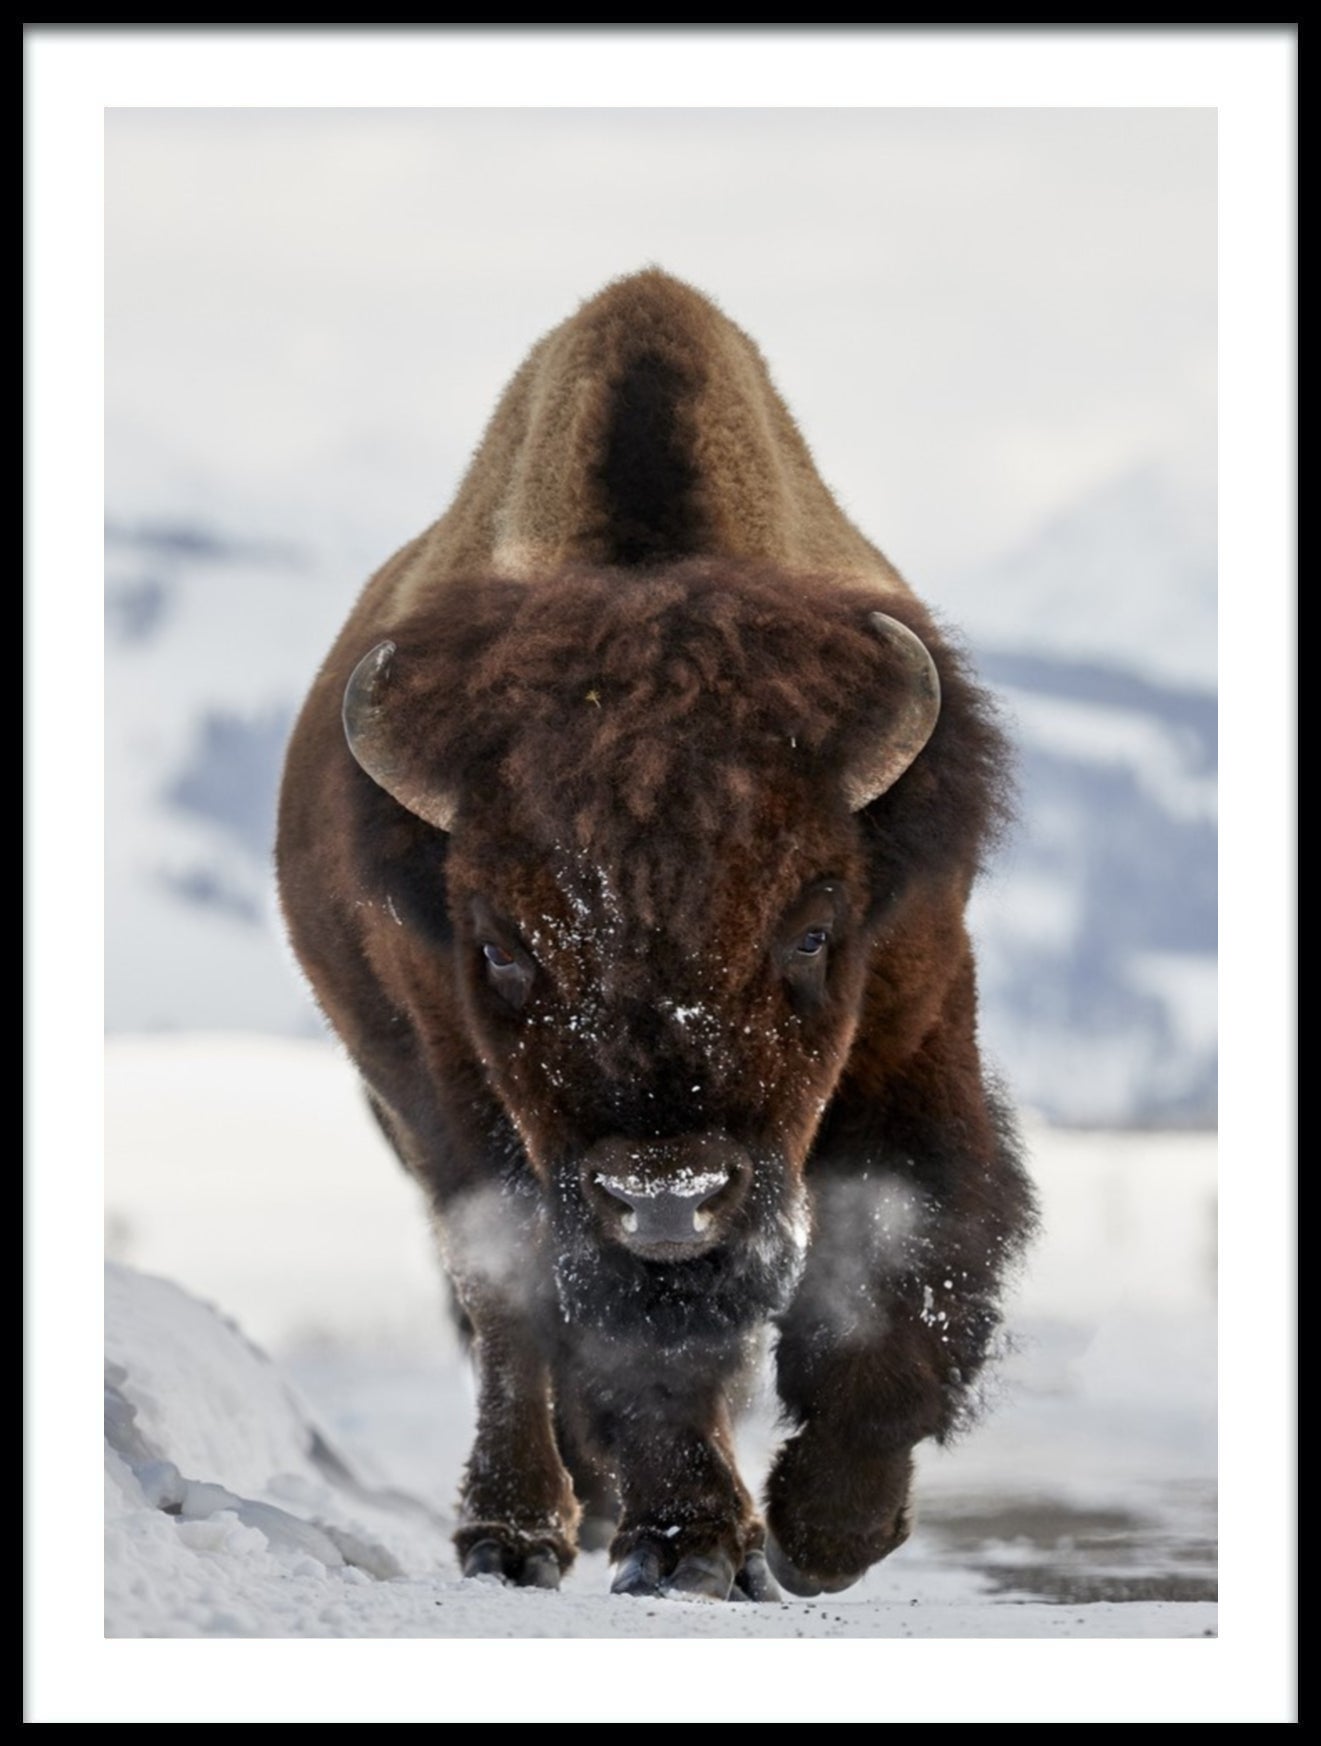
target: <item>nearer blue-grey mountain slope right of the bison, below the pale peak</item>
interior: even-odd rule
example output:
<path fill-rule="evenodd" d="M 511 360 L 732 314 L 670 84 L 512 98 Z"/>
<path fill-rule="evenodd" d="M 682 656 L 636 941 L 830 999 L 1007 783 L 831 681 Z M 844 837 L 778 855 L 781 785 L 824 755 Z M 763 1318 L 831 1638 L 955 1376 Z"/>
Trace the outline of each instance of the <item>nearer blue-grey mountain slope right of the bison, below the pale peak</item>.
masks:
<path fill-rule="evenodd" d="M 991 1056 L 1059 1121 L 1213 1121 L 1215 697 L 1042 656 L 981 670 L 1023 793 L 974 904 Z"/>

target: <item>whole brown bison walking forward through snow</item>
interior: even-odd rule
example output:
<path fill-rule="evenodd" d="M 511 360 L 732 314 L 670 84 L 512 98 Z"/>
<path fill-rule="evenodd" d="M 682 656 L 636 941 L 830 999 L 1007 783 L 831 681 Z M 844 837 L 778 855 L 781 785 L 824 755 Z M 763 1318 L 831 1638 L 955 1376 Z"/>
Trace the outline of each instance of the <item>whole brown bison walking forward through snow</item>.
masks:
<path fill-rule="evenodd" d="M 614 1592 L 763 1599 L 906 1538 L 1033 1224 L 963 920 L 1007 766 L 752 340 L 654 269 L 532 349 L 368 581 L 279 887 L 471 1336 L 466 1575 L 609 1543 Z"/>

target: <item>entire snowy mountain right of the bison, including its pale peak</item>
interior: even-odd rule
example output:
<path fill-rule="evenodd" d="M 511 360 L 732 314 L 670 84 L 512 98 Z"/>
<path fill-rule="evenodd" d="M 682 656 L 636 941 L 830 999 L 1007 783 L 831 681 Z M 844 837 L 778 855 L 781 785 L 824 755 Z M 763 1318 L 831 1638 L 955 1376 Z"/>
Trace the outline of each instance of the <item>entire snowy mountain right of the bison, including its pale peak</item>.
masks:
<path fill-rule="evenodd" d="M 1129 471 L 944 604 L 1021 758 L 974 911 L 989 1053 L 1059 1121 L 1215 1121 L 1213 505 Z"/>

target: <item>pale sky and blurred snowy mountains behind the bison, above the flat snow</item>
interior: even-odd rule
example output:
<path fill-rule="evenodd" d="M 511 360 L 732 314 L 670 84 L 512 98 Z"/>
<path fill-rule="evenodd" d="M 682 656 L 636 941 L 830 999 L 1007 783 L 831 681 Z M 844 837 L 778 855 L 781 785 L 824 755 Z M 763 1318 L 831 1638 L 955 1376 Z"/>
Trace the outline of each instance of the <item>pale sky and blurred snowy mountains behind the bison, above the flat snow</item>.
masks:
<path fill-rule="evenodd" d="M 988 1055 L 1056 1123 L 1211 1124 L 1209 110 L 108 112 L 110 1032 L 318 1032 L 293 714 L 530 344 L 647 262 L 1007 709 Z"/>

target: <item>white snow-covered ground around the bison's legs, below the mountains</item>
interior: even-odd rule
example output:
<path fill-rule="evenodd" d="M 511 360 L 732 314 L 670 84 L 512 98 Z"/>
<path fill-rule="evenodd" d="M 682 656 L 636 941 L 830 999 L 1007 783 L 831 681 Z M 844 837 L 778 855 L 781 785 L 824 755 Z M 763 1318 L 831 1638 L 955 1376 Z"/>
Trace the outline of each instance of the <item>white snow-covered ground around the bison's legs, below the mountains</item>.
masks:
<path fill-rule="evenodd" d="M 199 1112 L 206 1119 L 199 1119 Z M 1202 1638 L 1216 1633 L 1215 1140 L 1033 1126 L 1045 1236 L 984 1423 L 822 1601 L 461 1582 L 471 1390 L 426 1217 L 323 1042 L 106 1056 L 106 1634 Z M 215 1306 L 215 1308 L 211 1308 Z M 743 1430 L 749 1479 L 775 1437 Z"/>

